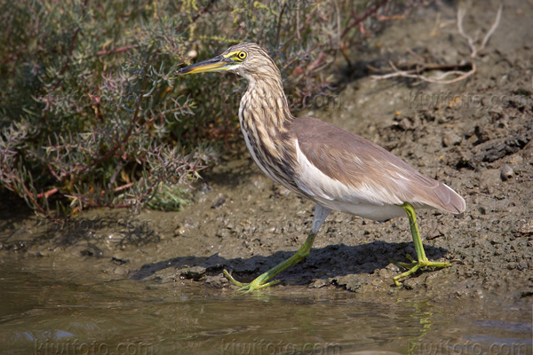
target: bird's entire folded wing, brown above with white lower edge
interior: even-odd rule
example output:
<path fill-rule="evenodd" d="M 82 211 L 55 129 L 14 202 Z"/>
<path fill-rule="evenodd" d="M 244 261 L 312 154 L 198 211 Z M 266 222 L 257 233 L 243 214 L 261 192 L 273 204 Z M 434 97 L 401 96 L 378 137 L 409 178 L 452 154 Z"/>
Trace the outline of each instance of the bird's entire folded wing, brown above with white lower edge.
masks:
<path fill-rule="evenodd" d="M 465 200 L 449 186 L 354 133 L 311 117 L 294 119 L 289 131 L 296 139 L 297 184 L 316 200 L 465 210 Z"/>

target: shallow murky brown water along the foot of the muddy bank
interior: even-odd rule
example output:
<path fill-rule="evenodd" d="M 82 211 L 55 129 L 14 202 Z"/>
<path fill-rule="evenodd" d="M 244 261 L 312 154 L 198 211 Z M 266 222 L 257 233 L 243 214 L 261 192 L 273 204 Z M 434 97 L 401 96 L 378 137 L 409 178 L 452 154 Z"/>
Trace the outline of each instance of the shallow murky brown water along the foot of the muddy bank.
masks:
<path fill-rule="evenodd" d="M 530 354 L 531 305 L 86 281 L 0 264 L 5 354 Z M 188 282 L 188 281 L 187 281 Z"/>

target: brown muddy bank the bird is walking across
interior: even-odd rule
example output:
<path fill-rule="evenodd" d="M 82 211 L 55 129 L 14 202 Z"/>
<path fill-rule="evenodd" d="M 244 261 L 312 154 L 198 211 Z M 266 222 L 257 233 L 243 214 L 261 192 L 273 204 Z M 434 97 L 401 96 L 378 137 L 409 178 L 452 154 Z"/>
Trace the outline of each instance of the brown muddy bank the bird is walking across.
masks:
<path fill-rule="evenodd" d="M 496 1 L 467 2 L 465 32 L 482 39 Z M 334 104 L 305 113 L 369 138 L 465 197 L 463 217 L 418 213 L 427 256 L 447 269 L 418 272 L 394 287 L 391 260 L 415 256 L 406 217 L 384 223 L 332 213 L 304 262 L 278 275 L 278 290 L 346 288 L 362 298 L 428 296 L 507 301 L 533 296 L 532 1 L 505 2 L 501 22 L 475 60 L 476 73 L 449 85 L 375 80 L 371 67 L 426 59 L 469 61 L 457 4 L 394 20 L 339 66 Z M 478 41 L 479 42 L 479 41 Z M 478 43 L 479 45 L 479 43 Z M 434 73 L 439 75 L 442 73 Z M 344 75 L 344 76 L 343 76 Z M 220 88 L 223 90 L 223 88 Z M 236 114 L 236 107 L 235 107 Z M 0 257 L 28 267 L 53 263 L 79 277 L 132 278 L 162 287 L 232 289 L 222 270 L 253 280 L 306 239 L 314 204 L 262 175 L 244 144 L 223 156 L 182 212 L 91 210 L 66 225 L 33 217 L 15 198 L 0 204 Z"/>

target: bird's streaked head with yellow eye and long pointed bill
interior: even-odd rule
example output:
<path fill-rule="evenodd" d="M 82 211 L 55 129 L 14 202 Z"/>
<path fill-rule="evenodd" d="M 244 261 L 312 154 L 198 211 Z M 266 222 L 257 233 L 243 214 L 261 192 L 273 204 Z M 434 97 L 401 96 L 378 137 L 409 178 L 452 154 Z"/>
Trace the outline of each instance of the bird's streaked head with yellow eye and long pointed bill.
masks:
<path fill-rule="evenodd" d="M 256 43 L 239 43 L 217 57 L 206 59 L 178 70 L 179 75 L 229 71 L 251 79 L 257 75 L 279 75 L 279 70 Z"/>

